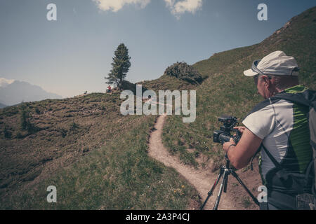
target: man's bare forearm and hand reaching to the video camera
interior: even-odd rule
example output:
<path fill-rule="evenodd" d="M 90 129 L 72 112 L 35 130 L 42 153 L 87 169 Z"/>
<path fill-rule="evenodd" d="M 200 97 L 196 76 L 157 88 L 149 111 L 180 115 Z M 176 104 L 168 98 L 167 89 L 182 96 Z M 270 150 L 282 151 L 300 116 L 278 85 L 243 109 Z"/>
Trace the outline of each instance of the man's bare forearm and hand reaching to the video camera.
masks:
<path fill-rule="evenodd" d="M 230 163 L 236 168 L 241 169 L 248 165 L 252 156 L 256 153 L 257 149 L 261 145 L 262 139 L 257 137 L 247 128 L 242 133 L 242 138 L 239 140 L 237 146 L 230 146 L 235 144 L 233 139 L 223 144 L 223 150 L 228 151 L 228 159 Z M 229 148 L 229 150 L 228 150 Z"/>

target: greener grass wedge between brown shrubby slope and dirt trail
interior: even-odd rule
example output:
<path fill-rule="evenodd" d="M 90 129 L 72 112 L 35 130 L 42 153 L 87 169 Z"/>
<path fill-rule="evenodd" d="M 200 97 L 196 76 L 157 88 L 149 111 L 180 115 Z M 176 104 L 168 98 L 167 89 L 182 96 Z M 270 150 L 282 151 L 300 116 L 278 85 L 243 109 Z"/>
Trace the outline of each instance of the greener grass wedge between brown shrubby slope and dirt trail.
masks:
<path fill-rule="evenodd" d="M 154 117 L 144 119 L 45 181 L 1 198 L 0 209 L 186 209 L 199 201 L 174 169 L 148 157 Z M 46 202 L 48 186 L 56 186 L 57 203 Z"/>

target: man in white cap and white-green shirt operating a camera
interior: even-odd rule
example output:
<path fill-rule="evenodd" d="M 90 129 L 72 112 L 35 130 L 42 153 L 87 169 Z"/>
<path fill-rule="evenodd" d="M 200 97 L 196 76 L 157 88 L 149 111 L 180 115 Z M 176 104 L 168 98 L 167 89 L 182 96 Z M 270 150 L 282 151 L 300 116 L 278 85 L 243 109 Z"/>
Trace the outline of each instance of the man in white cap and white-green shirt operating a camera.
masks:
<path fill-rule="evenodd" d="M 312 161 L 308 108 L 273 96 L 280 92 L 308 91 L 298 85 L 298 65 L 294 57 L 275 51 L 255 61 L 245 76 L 253 76 L 258 93 L 265 101 L 258 104 L 243 120 L 245 127 L 236 127 L 242 138 L 223 144 L 231 164 L 245 167 L 261 147 L 259 168 L 268 188 L 268 204 L 264 209 L 296 209 L 296 195 L 310 193 L 311 182 L 302 188 L 301 176 Z M 307 110 L 307 111 L 306 111 Z M 297 174 L 296 179 L 287 174 Z M 263 209 L 261 207 L 261 209 Z"/>

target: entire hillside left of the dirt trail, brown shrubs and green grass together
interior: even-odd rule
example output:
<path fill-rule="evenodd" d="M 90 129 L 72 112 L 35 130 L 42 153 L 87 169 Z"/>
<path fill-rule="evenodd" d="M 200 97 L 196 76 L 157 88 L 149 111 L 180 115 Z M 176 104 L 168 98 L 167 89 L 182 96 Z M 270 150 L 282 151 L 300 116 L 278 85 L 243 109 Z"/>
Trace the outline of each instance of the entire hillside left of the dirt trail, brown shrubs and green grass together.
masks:
<path fill-rule="evenodd" d="M 121 116 L 122 101 L 119 94 L 88 94 L 0 110 L 0 209 L 199 204 L 192 186 L 147 157 L 155 117 Z M 51 185 L 58 190 L 57 204 L 46 202 Z"/>

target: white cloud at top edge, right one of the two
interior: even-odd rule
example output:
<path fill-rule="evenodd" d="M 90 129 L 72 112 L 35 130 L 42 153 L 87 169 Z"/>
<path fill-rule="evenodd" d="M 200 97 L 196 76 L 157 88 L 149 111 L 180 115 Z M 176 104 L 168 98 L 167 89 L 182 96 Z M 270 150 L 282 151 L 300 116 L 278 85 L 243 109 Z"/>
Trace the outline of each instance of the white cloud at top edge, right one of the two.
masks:
<path fill-rule="evenodd" d="M 171 10 L 171 13 L 175 15 L 177 18 L 180 17 L 183 13 L 192 13 L 202 8 L 202 0 L 164 0 L 166 2 L 166 6 Z"/>

